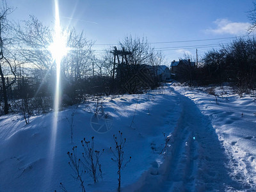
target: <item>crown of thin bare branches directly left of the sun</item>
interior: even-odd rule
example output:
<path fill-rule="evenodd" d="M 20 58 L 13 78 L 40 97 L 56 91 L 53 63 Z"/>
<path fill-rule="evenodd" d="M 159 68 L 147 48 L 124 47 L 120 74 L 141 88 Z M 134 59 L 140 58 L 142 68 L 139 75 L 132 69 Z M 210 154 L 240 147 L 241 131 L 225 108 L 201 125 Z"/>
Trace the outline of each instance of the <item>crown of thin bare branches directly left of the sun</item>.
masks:
<path fill-rule="evenodd" d="M 28 65 L 34 65 L 33 68 L 38 70 L 51 70 L 53 65 L 49 45 L 52 43 L 52 29 L 30 15 L 29 20 L 17 24 L 15 31 L 15 48 L 19 50 L 19 59 Z"/>

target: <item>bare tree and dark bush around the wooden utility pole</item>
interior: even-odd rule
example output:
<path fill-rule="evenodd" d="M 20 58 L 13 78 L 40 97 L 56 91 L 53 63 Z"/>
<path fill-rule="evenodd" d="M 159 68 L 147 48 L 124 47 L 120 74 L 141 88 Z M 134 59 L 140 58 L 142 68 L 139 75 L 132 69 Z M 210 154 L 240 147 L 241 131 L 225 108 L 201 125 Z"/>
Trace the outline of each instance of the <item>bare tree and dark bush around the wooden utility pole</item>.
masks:
<path fill-rule="evenodd" d="M 111 93 L 136 93 L 141 88 L 156 86 L 156 72 L 152 66 L 160 65 L 163 56 L 151 47 L 147 38 L 126 36 L 111 49 L 106 51 L 103 61 L 108 74 L 112 76 Z M 139 77 L 141 74 L 143 79 Z"/>

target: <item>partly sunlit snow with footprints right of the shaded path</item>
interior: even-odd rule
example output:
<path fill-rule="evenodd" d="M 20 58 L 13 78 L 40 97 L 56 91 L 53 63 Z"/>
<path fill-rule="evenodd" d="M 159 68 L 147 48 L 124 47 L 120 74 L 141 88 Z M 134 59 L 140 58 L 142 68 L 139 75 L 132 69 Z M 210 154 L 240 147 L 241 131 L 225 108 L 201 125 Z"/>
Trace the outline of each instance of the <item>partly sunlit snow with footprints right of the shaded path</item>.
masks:
<path fill-rule="evenodd" d="M 242 189 L 256 189 L 255 95 L 240 97 L 228 86 L 215 88 L 216 96 L 199 89 L 177 87 L 175 90 L 193 100 L 202 114 L 209 116 L 225 148 L 230 176 L 237 180 Z"/>

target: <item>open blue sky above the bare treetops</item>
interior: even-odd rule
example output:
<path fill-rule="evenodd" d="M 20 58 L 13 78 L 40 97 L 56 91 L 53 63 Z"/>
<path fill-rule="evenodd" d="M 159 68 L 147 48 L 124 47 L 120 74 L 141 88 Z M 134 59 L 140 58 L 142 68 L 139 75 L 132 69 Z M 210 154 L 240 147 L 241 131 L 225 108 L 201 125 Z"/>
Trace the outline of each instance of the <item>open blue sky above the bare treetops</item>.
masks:
<path fill-rule="evenodd" d="M 35 15 L 45 25 L 54 23 L 54 0 L 8 0 L 8 4 L 16 8 L 9 19 L 27 20 Z M 195 56 L 196 48 L 203 56 L 213 46 L 234 40 L 229 37 L 246 35 L 250 24 L 247 12 L 253 1 L 59 0 L 59 5 L 61 24 L 84 30 L 95 44 L 116 44 L 126 35 L 146 36 L 150 43 L 170 42 L 152 44 L 164 50 L 170 62 L 182 58 L 184 52 Z M 95 45 L 97 50 L 107 47 Z"/>

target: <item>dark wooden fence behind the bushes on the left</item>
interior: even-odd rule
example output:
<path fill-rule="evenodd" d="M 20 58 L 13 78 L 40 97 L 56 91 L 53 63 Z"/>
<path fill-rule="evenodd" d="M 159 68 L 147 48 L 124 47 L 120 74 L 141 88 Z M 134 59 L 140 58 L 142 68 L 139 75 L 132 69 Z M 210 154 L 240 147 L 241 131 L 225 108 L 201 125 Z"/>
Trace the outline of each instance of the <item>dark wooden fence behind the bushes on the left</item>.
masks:
<path fill-rule="evenodd" d="M 52 77 L 54 78 L 54 77 Z M 17 77 L 15 83 L 7 90 L 10 99 L 20 99 L 24 97 L 45 97 L 55 93 L 55 79 L 39 79 L 35 77 Z M 10 84 L 13 77 L 6 77 L 5 84 Z M 112 83 L 111 77 L 86 77 L 82 79 L 61 79 L 62 94 L 71 98 L 82 97 L 83 95 L 97 95 L 109 93 L 109 85 Z M 78 95 L 78 96 L 77 96 Z M 81 96 L 82 95 L 82 96 Z M 3 97 L 3 83 L 0 78 L 0 101 Z"/>

